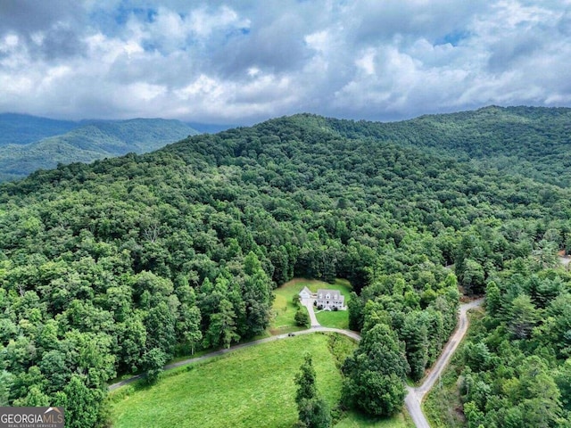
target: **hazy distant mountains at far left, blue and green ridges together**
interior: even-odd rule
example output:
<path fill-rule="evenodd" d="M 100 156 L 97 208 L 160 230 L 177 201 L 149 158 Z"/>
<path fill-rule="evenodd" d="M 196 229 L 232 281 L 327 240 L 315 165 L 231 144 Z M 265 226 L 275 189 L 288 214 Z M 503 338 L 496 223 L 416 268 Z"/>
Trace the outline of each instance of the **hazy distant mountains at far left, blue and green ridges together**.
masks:
<path fill-rule="evenodd" d="M 58 163 L 90 162 L 128 152 L 153 152 L 199 134 L 174 119 L 72 122 L 0 114 L 0 180 L 26 177 Z"/>

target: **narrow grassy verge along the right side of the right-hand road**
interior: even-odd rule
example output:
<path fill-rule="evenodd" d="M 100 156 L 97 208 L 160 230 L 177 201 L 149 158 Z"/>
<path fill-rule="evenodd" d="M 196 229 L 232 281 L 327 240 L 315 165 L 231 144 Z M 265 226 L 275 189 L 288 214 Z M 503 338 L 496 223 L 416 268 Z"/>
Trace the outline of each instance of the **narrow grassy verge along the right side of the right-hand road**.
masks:
<path fill-rule="evenodd" d="M 470 326 L 462 342 L 465 342 L 470 333 L 474 331 L 474 328 L 477 328 L 476 325 L 483 315 L 481 311 L 470 311 L 468 313 Z M 458 391 L 458 377 L 462 370 L 459 358 L 461 348 L 462 343 L 460 343 L 456 354 L 451 358 L 450 364 L 444 369 L 442 382 L 434 384 L 434 388 L 426 396 L 422 404 L 430 426 L 435 428 L 459 428 L 466 425 Z"/>

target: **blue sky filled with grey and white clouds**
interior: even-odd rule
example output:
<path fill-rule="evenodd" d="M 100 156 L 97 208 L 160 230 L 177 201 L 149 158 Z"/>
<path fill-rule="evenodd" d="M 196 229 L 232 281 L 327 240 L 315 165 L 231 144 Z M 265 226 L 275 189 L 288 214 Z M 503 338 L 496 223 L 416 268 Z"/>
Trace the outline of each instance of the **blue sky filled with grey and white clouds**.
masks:
<path fill-rule="evenodd" d="M 0 111 L 251 124 L 571 106 L 571 0 L 0 0 Z"/>

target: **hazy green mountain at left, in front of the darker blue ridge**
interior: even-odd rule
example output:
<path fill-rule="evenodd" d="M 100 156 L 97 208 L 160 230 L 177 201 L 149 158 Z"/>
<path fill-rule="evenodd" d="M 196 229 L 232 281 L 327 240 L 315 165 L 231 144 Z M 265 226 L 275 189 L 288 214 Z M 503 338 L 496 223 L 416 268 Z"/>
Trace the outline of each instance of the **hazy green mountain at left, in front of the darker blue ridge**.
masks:
<path fill-rule="evenodd" d="M 41 120 L 35 118 L 27 122 L 27 126 L 37 122 Z M 78 128 L 63 135 L 0 147 L 0 179 L 25 177 L 37 169 L 55 168 L 58 163 L 89 162 L 128 152 L 152 152 L 197 134 L 178 120 L 86 120 L 80 123 L 76 124 Z M 46 132 L 46 128 L 40 131 Z"/>

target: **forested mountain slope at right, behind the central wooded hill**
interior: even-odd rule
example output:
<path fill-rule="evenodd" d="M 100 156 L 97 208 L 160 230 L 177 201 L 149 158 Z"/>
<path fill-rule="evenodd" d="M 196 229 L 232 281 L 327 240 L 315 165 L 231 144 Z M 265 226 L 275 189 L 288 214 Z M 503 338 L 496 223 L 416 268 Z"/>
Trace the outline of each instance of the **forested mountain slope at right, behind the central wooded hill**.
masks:
<path fill-rule="evenodd" d="M 490 106 L 393 123 L 327 123 L 342 136 L 374 136 L 553 185 L 571 185 L 568 108 Z"/>

